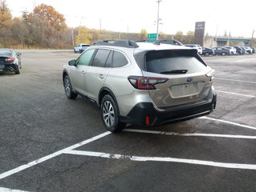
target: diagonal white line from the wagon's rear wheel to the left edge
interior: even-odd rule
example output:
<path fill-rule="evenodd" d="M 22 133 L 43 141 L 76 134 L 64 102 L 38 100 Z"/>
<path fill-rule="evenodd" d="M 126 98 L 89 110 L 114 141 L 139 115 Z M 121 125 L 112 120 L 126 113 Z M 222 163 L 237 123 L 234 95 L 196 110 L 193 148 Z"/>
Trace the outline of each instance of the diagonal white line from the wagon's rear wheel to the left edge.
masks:
<path fill-rule="evenodd" d="M 87 140 L 85 140 L 85 141 L 83 141 L 83 142 L 79 142 L 79 143 L 77 143 L 77 144 L 75 144 L 75 145 L 73 145 L 73 146 L 69 146 L 69 147 L 67 147 L 67 148 L 65 148 L 65 149 L 63 149 L 63 150 L 59 150 L 59 151 L 57 151 L 57 152 L 55 152 L 55 153 L 53 153 L 53 154 L 49 154 L 49 155 L 47 155 L 47 156 L 45 156 L 45 157 L 43 157 L 43 158 L 36 159 L 36 160 L 33 161 L 33 162 L 29 162 L 29 163 L 26 163 L 25 165 L 18 166 L 18 167 L 16 167 L 16 168 L 14 168 L 13 170 L 8 170 L 8 171 L 6 171 L 5 173 L 0 174 L 0 179 L 6 178 L 6 177 L 8 177 L 8 176 L 10 176 L 10 175 L 12 175 L 12 174 L 16 174 L 16 173 L 18 173 L 18 172 L 20 172 L 20 171 L 22 171 L 22 170 L 26 170 L 27 168 L 29 168 L 29 167 L 31 167 L 31 166 L 35 166 L 35 165 L 37 165 L 37 164 L 39 164 L 39 163 L 41 163 L 41 162 L 45 162 L 45 161 L 47 161 L 47 160 L 49 160 L 49 159 L 51 159 L 51 158 L 55 158 L 55 157 L 58 156 L 59 154 L 63 154 L 63 151 L 66 151 L 66 150 L 74 150 L 75 148 L 77 148 L 77 147 L 79 147 L 79 146 L 86 145 L 87 143 L 93 142 L 93 141 L 95 141 L 95 140 L 97 140 L 97 139 L 99 139 L 99 138 L 104 138 L 104 137 L 107 136 L 108 134 L 111 134 L 111 132 L 107 131 L 107 132 L 105 132 L 104 134 L 99 134 L 99 135 L 97 135 L 97 136 L 95 136 L 95 137 L 93 137 L 93 138 L 89 138 L 89 139 L 87 139 Z"/>

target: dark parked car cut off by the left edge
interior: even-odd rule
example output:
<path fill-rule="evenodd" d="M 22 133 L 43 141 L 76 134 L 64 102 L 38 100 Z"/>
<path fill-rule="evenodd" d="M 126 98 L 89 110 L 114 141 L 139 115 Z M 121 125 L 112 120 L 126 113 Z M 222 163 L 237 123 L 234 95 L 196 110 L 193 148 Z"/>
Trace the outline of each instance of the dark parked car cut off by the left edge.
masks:
<path fill-rule="evenodd" d="M 16 53 L 12 49 L 0 49 L 0 73 L 14 71 L 19 74 L 22 68 L 21 53 Z"/>

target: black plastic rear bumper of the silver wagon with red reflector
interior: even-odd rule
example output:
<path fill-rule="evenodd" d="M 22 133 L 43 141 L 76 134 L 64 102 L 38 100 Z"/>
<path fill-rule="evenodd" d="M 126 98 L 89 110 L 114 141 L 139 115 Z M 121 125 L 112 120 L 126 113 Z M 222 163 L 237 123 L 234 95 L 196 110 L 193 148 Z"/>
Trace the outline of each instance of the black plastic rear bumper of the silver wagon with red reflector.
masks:
<path fill-rule="evenodd" d="M 169 122 L 181 122 L 210 114 L 216 106 L 217 95 L 211 90 L 204 102 L 187 106 L 173 106 L 165 110 L 156 110 L 151 102 L 140 102 L 120 121 L 138 126 L 158 126 Z"/>

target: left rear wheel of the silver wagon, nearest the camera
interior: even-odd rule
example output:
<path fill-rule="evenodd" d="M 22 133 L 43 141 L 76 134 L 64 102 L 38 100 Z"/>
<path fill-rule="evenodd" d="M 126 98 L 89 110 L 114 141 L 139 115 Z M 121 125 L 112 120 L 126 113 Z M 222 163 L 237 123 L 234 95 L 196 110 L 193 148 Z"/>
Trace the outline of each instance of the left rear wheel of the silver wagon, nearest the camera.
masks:
<path fill-rule="evenodd" d="M 116 102 L 109 94 L 106 94 L 102 99 L 100 112 L 107 130 L 116 133 L 124 128 L 125 123 L 119 120 L 119 109 Z"/>

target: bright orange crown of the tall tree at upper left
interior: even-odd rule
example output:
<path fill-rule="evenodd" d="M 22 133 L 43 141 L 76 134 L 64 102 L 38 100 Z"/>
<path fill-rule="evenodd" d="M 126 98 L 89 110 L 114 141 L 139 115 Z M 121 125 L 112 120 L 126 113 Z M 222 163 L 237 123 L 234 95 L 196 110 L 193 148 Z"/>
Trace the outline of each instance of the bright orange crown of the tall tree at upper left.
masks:
<path fill-rule="evenodd" d="M 46 4 L 36 6 L 34 16 L 45 20 L 50 26 L 53 26 L 55 30 L 64 30 L 67 27 L 66 19 L 63 14 L 59 14 L 52 6 L 47 6 Z"/>

